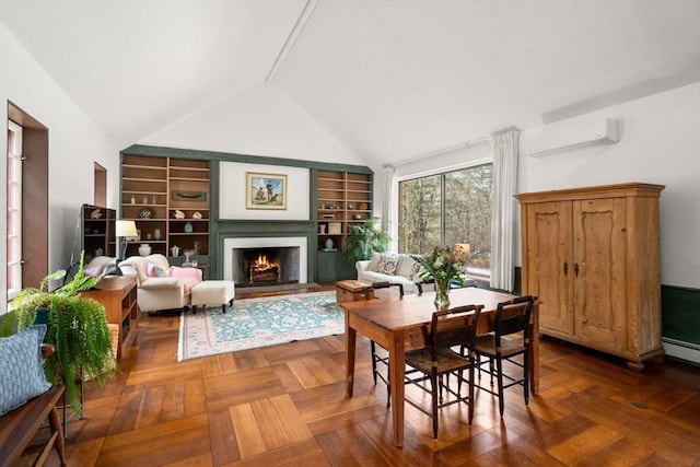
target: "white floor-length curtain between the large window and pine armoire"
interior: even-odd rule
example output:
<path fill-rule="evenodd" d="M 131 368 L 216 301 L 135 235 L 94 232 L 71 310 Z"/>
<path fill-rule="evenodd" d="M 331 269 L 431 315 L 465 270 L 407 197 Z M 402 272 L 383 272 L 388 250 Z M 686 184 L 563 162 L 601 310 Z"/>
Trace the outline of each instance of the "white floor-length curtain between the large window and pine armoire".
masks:
<path fill-rule="evenodd" d="M 520 130 L 491 136 L 493 149 L 493 213 L 491 223 L 491 288 L 513 290 L 515 256 L 515 210 L 517 189 L 517 142 Z"/>

